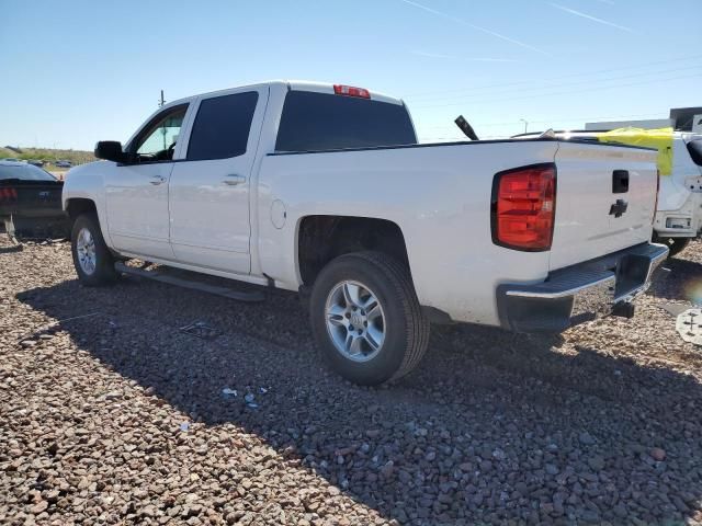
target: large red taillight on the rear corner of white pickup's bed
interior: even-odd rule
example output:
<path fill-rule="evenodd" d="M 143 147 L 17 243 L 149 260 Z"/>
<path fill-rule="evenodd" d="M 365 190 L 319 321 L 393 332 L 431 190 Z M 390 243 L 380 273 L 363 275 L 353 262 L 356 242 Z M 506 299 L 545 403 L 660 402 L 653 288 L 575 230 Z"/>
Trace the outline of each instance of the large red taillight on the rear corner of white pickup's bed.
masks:
<path fill-rule="evenodd" d="M 556 165 L 506 170 L 492 181 L 492 242 L 526 252 L 551 250 L 556 215 Z"/>

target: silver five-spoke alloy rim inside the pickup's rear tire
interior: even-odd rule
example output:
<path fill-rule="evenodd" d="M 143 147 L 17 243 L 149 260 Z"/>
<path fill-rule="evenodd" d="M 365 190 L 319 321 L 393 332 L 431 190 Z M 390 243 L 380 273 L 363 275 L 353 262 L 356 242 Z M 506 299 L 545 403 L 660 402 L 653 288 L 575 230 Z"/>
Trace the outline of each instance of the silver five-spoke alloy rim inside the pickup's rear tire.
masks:
<path fill-rule="evenodd" d="M 366 285 L 343 281 L 327 296 L 327 331 L 341 355 L 353 362 L 373 359 L 385 342 L 385 312 Z"/>

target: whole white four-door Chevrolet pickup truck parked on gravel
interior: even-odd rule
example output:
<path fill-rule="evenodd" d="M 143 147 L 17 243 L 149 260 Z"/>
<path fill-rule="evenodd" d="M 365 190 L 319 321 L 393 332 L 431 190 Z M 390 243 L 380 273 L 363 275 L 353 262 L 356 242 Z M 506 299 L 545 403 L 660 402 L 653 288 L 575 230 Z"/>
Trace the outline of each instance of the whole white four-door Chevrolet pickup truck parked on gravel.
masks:
<path fill-rule="evenodd" d="M 558 332 L 631 316 L 668 252 L 649 243 L 655 151 L 420 145 L 403 101 L 361 88 L 183 99 L 95 156 L 63 193 L 81 282 L 134 258 L 301 291 L 322 354 L 359 384 L 411 370 L 432 321 Z"/>

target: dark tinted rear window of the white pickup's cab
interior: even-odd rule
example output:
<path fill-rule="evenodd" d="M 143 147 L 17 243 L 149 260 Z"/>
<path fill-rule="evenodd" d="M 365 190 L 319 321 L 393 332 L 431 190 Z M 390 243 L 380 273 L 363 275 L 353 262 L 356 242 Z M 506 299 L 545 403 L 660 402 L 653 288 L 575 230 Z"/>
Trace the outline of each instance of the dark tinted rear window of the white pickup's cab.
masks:
<path fill-rule="evenodd" d="M 276 151 L 416 145 L 404 105 L 309 91 L 288 91 Z"/>

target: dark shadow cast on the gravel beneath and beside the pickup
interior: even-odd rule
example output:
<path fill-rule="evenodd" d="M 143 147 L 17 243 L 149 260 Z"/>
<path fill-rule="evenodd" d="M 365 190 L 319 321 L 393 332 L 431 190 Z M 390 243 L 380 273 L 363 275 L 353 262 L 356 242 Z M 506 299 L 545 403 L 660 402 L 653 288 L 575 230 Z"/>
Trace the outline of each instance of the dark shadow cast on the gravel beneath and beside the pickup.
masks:
<path fill-rule="evenodd" d="M 453 328 L 435 331 L 406 379 L 359 388 L 319 364 L 295 295 L 241 305 L 72 281 L 18 298 L 57 320 L 99 312 L 60 329 L 191 421 L 257 434 L 387 519 L 661 524 L 700 506 L 702 386 L 691 375 L 601 348 L 554 352 L 561 338 Z M 195 320 L 219 336 L 179 330 Z"/>

